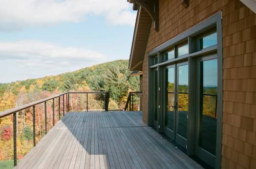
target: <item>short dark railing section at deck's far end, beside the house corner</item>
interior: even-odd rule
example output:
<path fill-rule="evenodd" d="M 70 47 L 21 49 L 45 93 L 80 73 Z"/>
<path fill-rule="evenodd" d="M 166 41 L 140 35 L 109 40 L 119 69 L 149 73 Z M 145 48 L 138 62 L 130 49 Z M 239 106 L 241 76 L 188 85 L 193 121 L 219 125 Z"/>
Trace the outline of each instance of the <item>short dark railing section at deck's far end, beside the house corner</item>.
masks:
<path fill-rule="evenodd" d="M 142 92 L 129 92 L 124 111 L 140 111 L 142 103 Z"/>

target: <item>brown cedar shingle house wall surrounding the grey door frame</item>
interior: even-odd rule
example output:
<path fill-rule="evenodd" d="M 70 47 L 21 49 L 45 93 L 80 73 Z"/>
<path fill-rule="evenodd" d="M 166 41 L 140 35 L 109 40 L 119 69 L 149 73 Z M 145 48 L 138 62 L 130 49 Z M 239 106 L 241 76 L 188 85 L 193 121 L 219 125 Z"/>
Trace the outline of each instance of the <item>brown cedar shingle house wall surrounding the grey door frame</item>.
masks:
<path fill-rule="evenodd" d="M 238 0 L 159 0 L 159 32 L 151 27 L 143 60 L 143 121 L 147 123 L 147 53 L 222 11 L 222 168 L 256 166 L 256 17 Z"/>

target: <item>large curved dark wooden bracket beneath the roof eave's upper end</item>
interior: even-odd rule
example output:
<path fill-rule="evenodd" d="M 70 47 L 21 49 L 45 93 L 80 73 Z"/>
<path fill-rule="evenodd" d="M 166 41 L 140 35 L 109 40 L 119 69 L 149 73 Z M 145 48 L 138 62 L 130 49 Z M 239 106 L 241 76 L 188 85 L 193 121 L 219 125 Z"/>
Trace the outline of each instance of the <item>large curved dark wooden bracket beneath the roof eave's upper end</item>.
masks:
<path fill-rule="evenodd" d="M 153 20 L 155 31 L 158 32 L 158 29 L 159 29 L 158 0 L 127 0 L 127 2 L 133 4 L 133 10 L 138 10 L 138 6 L 141 6 L 142 8 L 144 8 Z"/>

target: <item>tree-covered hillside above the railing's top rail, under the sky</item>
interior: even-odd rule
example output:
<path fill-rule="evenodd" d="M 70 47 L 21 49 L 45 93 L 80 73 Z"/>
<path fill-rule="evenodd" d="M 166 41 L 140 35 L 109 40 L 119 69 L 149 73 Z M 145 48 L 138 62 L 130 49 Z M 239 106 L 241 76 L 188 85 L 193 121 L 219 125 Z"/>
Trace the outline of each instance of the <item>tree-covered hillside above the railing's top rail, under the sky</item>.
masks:
<path fill-rule="evenodd" d="M 0 111 L 15 106 L 15 98 L 20 94 L 29 95 L 29 102 L 66 91 L 109 91 L 110 98 L 121 108 L 127 92 L 139 90 L 139 79 L 130 76 L 128 63 L 128 60 L 117 60 L 56 76 L 2 83 Z M 31 97 L 34 94 L 42 96 Z"/>

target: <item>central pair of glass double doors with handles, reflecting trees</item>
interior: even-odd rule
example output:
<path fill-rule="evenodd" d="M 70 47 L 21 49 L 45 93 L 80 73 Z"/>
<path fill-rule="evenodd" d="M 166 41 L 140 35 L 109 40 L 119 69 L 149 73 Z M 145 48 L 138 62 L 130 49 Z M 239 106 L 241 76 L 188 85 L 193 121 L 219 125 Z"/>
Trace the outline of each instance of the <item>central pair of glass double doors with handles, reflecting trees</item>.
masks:
<path fill-rule="evenodd" d="M 164 133 L 185 148 L 188 115 L 187 63 L 167 66 L 164 76 L 166 91 Z"/>

